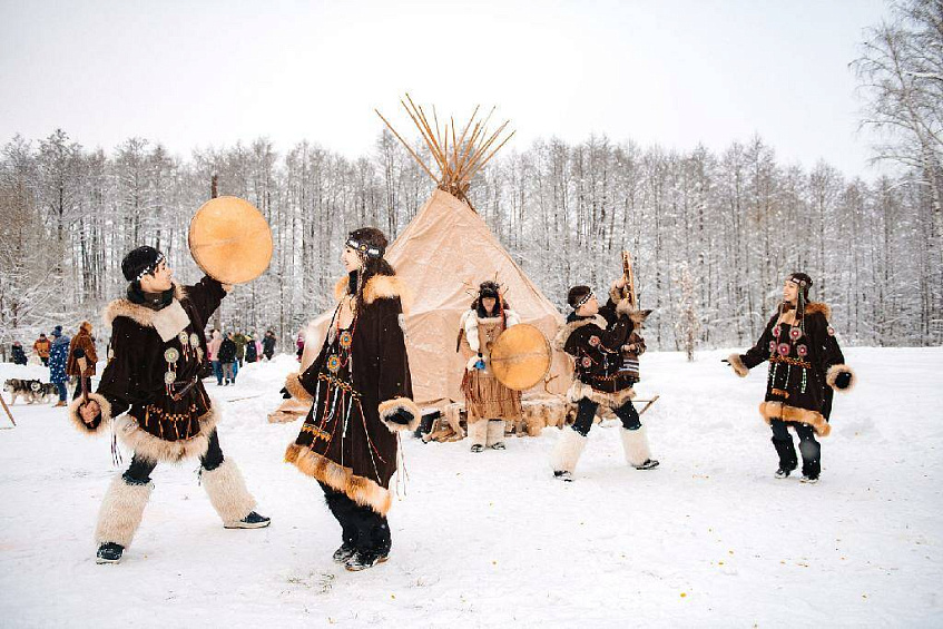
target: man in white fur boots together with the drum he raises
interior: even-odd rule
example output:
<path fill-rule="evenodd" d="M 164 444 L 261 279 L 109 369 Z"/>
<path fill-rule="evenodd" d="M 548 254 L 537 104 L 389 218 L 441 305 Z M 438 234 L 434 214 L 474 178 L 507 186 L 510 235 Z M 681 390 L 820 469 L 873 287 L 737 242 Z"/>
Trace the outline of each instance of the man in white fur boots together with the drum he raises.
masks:
<path fill-rule="evenodd" d="M 206 220 L 213 232 L 208 239 L 200 230 Z M 253 223 L 258 225 L 258 239 L 239 243 L 232 237 Z M 197 213 L 189 244 L 197 264 L 213 272 L 193 286 L 174 282 L 164 254 L 154 247 L 138 247 L 121 261 L 127 296 L 111 302 L 104 315 L 111 327 L 108 364 L 98 391 L 69 406 L 79 430 L 100 433 L 112 424 L 117 438 L 134 451 L 130 466 L 111 481 L 101 503 L 95 532 L 98 563 L 120 561 L 154 489 L 150 473 L 161 462 L 199 458 L 200 484 L 226 529 L 269 524 L 268 518 L 255 512 L 255 499 L 235 461 L 223 456 L 216 430 L 219 414 L 202 377 L 208 375 L 206 323 L 230 288 L 223 282 L 257 277 L 268 265 L 272 235 L 251 204 L 220 197 Z M 240 246 L 248 252 L 240 252 Z M 207 248 L 215 256 L 205 256 Z M 253 253 L 262 256 L 254 259 Z M 239 263 L 233 265 L 233 259 Z"/>

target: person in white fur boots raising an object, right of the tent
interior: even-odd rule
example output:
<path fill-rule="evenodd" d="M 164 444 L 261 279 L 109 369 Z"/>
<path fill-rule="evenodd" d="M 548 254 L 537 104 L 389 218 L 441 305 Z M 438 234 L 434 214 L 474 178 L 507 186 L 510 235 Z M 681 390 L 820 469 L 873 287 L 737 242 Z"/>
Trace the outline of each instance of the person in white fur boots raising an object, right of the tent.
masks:
<path fill-rule="evenodd" d="M 567 295 L 573 312 L 557 333 L 554 344 L 574 361 L 573 383 L 567 399 L 577 405 L 577 419 L 571 430 L 563 429 L 551 458 L 553 475 L 564 481 L 572 481 L 600 405 L 622 422 L 626 461 L 637 470 L 658 465 L 632 405 L 632 387 L 639 380 L 638 357 L 645 352 L 645 341 L 638 331 L 651 311 L 637 309 L 623 294 L 625 288 L 625 278 L 615 282 L 609 301 L 601 308 L 589 286 L 573 286 Z"/>

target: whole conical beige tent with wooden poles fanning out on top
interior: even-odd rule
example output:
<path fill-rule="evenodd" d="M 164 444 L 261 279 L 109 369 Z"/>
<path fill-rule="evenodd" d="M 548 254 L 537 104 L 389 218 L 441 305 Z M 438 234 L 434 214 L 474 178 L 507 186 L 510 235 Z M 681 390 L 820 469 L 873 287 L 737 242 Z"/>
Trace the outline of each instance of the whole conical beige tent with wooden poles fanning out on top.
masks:
<path fill-rule="evenodd" d="M 456 129 L 451 119 L 443 129 L 434 114 L 430 125 L 423 109 L 413 105 L 409 95 L 406 101 L 401 102 L 420 129 L 434 159 L 432 167 L 382 115 L 381 118 L 438 186 L 387 248 L 386 259 L 414 293 L 412 308 L 406 315 L 406 350 L 414 399 L 420 404 L 441 405 L 463 399 L 460 385 L 465 361 L 455 351 L 459 322 L 481 282 L 497 279 L 521 321 L 538 327 L 548 338 L 553 337 L 563 317 L 501 246 L 465 196 L 474 174 L 513 135 L 501 139 L 508 122 L 489 132 L 491 116 L 475 120 L 475 108 L 462 129 Z M 438 176 L 433 174 L 435 169 Z M 308 326 L 303 367 L 320 352 L 331 314 L 323 314 Z M 554 351 L 548 380 L 536 390 L 563 393 L 569 385 L 570 371 L 569 360 Z"/>

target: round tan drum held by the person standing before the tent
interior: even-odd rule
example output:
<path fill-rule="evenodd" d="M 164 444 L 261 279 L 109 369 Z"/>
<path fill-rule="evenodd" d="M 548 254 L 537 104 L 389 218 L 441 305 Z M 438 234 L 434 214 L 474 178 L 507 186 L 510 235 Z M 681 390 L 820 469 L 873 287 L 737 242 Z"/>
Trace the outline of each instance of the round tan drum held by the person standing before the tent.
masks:
<path fill-rule="evenodd" d="M 491 371 L 501 384 L 527 391 L 550 371 L 553 355 L 547 337 L 532 325 L 512 325 L 491 346 Z"/>

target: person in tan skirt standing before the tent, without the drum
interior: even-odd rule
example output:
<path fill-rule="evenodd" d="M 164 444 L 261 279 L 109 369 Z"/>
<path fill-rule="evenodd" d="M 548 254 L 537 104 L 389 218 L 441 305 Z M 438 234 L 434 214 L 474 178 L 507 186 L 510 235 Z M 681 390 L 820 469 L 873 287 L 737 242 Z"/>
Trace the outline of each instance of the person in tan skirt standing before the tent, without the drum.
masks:
<path fill-rule="evenodd" d="M 471 309 L 459 324 L 459 346 L 469 356 L 462 377 L 471 451 L 504 450 L 504 421 L 521 419 L 521 392 L 509 389 L 492 370 L 491 347 L 509 327 L 521 322 L 508 307 L 497 282 L 482 282 Z"/>

